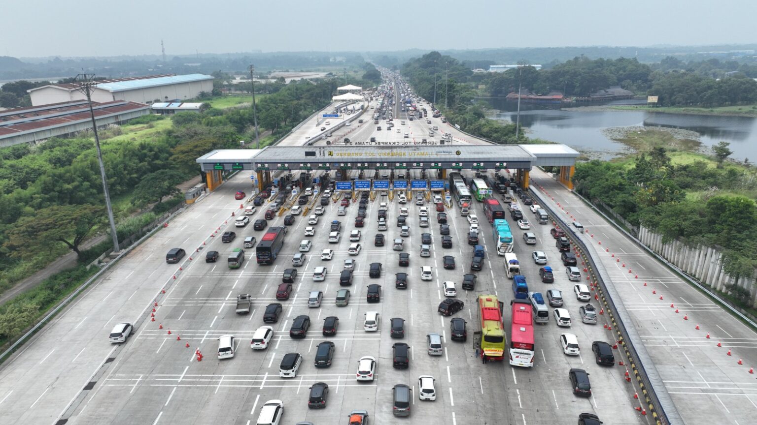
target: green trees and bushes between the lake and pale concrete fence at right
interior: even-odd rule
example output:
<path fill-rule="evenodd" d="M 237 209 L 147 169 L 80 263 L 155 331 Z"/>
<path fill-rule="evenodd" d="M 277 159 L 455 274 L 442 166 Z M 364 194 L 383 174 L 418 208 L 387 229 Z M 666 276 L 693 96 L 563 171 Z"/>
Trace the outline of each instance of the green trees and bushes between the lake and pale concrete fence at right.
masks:
<path fill-rule="evenodd" d="M 578 164 L 575 190 L 601 200 L 633 225 L 664 240 L 725 248 L 725 270 L 751 276 L 757 268 L 757 193 L 753 169 L 714 168 L 704 161 L 672 164 L 662 148 L 631 167 L 593 160 Z"/>

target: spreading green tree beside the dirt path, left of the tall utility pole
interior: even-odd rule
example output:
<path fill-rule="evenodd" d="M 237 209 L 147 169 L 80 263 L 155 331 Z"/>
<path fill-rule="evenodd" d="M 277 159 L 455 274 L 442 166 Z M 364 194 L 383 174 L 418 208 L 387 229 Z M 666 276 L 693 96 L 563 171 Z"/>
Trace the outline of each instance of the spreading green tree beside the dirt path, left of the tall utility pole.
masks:
<path fill-rule="evenodd" d="M 101 206 L 58 205 L 39 209 L 34 216 L 19 219 L 3 245 L 11 256 L 32 259 L 53 242 L 62 242 L 81 256 L 79 245 L 92 228 L 104 222 Z"/>

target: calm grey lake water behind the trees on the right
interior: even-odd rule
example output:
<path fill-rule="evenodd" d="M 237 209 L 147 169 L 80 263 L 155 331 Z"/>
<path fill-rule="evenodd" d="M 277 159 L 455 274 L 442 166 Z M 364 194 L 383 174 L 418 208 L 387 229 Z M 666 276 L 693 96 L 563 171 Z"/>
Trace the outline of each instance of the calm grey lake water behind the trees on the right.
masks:
<path fill-rule="evenodd" d="M 479 99 L 498 112 L 491 116 L 516 122 L 515 102 L 503 99 Z M 639 101 L 615 101 L 609 104 L 639 104 Z M 609 158 L 625 152 L 625 146 L 609 140 L 602 133 L 607 127 L 671 127 L 697 132 L 699 141 L 712 146 L 718 141 L 731 143 L 731 158 L 757 160 L 757 118 L 746 116 L 691 115 L 636 110 L 575 110 L 521 104 L 520 123 L 530 137 L 567 144 L 576 150 L 592 150 Z"/>

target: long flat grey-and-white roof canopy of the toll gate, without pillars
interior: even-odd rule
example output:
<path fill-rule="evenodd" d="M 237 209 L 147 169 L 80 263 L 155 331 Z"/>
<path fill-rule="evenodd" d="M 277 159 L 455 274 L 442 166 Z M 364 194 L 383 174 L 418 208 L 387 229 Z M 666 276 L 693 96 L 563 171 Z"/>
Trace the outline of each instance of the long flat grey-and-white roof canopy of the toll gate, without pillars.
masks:
<path fill-rule="evenodd" d="M 534 148 L 536 147 L 536 148 Z M 578 152 L 563 144 L 449 146 L 267 146 L 213 150 L 197 159 L 213 170 L 288 169 L 525 169 L 575 165 Z"/>

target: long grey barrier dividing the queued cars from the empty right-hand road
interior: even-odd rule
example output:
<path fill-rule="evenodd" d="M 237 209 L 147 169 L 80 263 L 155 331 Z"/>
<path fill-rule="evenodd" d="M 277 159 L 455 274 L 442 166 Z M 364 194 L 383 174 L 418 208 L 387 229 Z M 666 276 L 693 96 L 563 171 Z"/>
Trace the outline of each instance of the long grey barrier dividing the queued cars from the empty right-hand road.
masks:
<path fill-rule="evenodd" d="M 547 206 L 549 204 L 544 194 L 533 187 L 530 188 L 530 191 L 532 196 L 539 200 L 539 205 L 547 209 L 554 222 L 558 223 L 560 228 L 571 237 L 574 244 L 578 245 L 584 252 L 584 260 L 588 263 L 587 269 L 594 275 L 598 286 L 597 292 L 601 293 L 600 299 L 607 308 L 607 314 L 612 318 L 612 326 L 615 326 L 618 343 L 624 347 L 626 355 L 631 360 L 629 366 L 633 369 L 634 376 L 642 390 L 640 398 L 646 401 L 652 417 L 656 420 L 656 423 L 663 425 L 683 425 L 684 420 L 672 401 L 668 389 L 665 388 L 665 383 L 663 383 L 649 352 L 646 351 L 646 346 L 644 346 L 639 333 L 633 327 L 631 315 L 625 309 L 621 296 L 615 289 L 615 284 L 612 283 L 604 266 L 594 261 L 593 256 L 597 256 L 597 251 L 590 244 L 584 242 L 583 237 L 588 237 L 587 234 L 576 232 L 569 226 L 568 222 L 565 222 L 562 217 Z"/>

